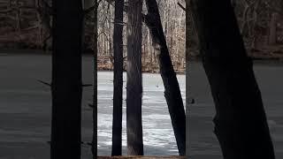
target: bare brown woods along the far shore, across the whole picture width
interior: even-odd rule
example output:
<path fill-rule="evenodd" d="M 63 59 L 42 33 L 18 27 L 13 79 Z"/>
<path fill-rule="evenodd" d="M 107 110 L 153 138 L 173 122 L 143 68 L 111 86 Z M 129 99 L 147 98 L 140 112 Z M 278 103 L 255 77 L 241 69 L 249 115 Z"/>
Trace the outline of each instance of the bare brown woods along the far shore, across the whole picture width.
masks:
<path fill-rule="evenodd" d="M 164 34 L 174 69 L 185 71 L 185 0 L 157 0 Z M 283 59 L 283 2 L 280 0 L 232 0 L 241 34 L 250 57 Z M 0 0 L 0 49 L 51 49 L 50 0 Z M 146 11 L 145 6 L 143 7 Z M 92 53 L 93 22 L 85 17 L 85 52 Z M 124 16 L 126 21 L 126 13 Z M 113 69 L 113 0 L 101 0 L 98 7 L 98 68 Z M 124 43 L 126 43 L 126 23 Z M 194 27 L 190 27 L 193 28 Z M 190 57 L 199 57 L 198 40 L 191 32 Z M 157 51 L 152 47 L 149 28 L 142 27 L 144 72 L 157 72 Z M 126 58 L 126 45 L 124 46 Z M 126 63 L 125 67 L 126 68 Z"/>

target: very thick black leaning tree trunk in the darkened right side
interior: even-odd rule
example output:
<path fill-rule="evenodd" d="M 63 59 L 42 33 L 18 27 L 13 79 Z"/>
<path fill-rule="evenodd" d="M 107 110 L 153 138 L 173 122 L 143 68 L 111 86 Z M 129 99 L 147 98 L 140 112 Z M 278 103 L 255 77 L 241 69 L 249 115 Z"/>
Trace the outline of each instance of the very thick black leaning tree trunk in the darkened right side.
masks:
<path fill-rule="evenodd" d="M 230 0 L 191 0 L 225 159 L 274 159 L 260 90 Z"/>

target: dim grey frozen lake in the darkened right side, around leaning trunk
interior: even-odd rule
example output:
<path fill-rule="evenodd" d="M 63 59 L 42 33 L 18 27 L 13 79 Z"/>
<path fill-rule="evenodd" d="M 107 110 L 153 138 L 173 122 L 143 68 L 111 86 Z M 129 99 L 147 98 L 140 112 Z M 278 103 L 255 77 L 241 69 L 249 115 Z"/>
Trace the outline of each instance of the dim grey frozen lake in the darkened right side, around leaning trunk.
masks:
<path fill-rule="evenodd" d="M 280 159 L 283 158 L 283 65 L 256 63 L 254 70 L 263 96 L 276 158 Z M 215 110 L 203 65 L 193 62 L 189 72 L 189 95 L 195 98 L 189 112 L 189 154 L 193 159 L 222 159 L 218 140 L 212 132 Z"/>

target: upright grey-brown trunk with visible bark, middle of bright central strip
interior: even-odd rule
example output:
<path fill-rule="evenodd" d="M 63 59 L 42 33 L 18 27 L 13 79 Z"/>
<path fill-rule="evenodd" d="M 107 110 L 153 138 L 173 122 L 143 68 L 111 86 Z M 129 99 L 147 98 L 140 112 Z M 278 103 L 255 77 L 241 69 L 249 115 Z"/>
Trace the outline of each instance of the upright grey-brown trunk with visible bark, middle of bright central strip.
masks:
<path fill-rule="evenodd" d="M 127 154 L 143 155 L 142 143 L 142 0 L 128 3 L 126 64 Z"/>

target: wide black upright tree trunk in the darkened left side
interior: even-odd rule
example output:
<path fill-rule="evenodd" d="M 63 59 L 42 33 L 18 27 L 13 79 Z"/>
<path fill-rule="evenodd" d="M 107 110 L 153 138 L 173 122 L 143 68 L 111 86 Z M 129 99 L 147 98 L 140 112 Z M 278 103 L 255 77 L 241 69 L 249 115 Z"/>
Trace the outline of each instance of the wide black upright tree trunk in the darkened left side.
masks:
<path fill-rule="evenodd" d="M 51 159 L 80 159 L 82 5 L 53 0 Z"/>

